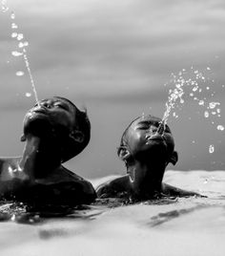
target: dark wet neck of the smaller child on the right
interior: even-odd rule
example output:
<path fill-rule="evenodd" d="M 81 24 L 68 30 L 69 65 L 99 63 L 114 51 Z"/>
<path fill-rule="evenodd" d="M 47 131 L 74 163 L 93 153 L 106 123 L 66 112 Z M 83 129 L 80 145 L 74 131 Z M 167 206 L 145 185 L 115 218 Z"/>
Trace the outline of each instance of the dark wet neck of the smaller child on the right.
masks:
<path fill-rule="evenodd" d="M 164 161 L 138 161 L 135 160 L 128 167 L 128 173 L 133 173 L 134 181 L 130 180 L 134 197 L 151 198 L 161 192 L 162 179 L 165 172 Z"/>

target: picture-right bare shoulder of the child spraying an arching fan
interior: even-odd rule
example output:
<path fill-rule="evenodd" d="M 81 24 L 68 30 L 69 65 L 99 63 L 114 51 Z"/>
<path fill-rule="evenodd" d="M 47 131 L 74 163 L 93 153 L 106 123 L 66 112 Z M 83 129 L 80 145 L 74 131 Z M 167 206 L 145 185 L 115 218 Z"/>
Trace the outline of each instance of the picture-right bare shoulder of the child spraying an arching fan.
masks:
<path fill-rule="evenodd" d="M 188 190 L 183 190 L 178 187 L 175 187 L 173 185 L 167 184 L 167 183 L 162 183 L 162 192 L 163 194 L 171 197 L 204 197 L 201 196 L 200 194 L 193 192 L 193 191 L 188 191 Z"/>

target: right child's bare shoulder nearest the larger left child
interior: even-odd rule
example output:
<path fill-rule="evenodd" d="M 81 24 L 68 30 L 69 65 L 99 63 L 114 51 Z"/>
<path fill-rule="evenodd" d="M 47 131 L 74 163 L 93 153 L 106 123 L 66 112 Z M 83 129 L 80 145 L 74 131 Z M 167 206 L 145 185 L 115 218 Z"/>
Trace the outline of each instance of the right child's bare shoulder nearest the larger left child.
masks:
<path fill-rule="evenodd" d="M 115 178 L 113 181 L 106 181 L 96 188 L 98 198 L 123 197 L 129 193 L 129 180 L 127 176 Z"/>

